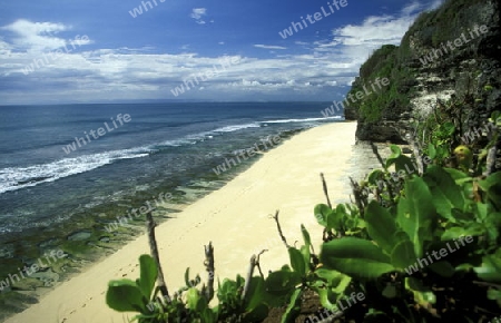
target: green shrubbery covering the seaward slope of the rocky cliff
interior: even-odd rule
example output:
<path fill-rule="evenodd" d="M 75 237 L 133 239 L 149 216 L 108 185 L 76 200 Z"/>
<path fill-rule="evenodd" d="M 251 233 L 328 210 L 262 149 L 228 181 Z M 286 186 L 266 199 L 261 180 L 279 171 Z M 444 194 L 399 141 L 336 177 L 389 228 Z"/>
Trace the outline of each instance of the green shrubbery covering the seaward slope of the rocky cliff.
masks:
<path fill-rule="evenodd" d="M 390 79 L 390 85 L 348 105 L 358 121 L 376 124 L 383 118 L 395 120 L 402 112 L 410 111 L 410 98 L 414 95 L 416 77 L 422 68 L 419 58 L 433 49 L 440 49 L 442 43 L 453 41 L 463 33 L 470 39 L 472 27 L 484 25 L 479 13 L 482 6 L 485 6 L 482 0 L 448 0 L 440 8 L 421 13 L 402 38 L 400 46 L 384 45 L 375 50 L 362 65 L 360 77 L 347 96 L 363 90 L 364 85 L 371 84 L 377 77 Z M 475 58 L 478 55 L 469 50 L 470 47 L 471 43 L 463 49 L 471 58 Z M 448 57 L 464 55 L 463 49 L 450 52 Z"/>

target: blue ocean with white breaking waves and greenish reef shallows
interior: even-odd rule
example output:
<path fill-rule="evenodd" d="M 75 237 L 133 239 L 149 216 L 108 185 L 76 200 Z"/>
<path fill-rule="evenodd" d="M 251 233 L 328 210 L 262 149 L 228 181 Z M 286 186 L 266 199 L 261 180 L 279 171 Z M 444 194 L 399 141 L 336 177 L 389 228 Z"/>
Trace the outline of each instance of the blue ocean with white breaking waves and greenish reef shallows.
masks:
<path fill-rule="evenodd" d="M 166 221 L 257 160 L 259 154 L 246 154 L 253 147 L 265 151 L 273 145 L 263 143 L 273 137 L 282 143 L 304 129 L 343 120 L 322 115 L 328 105 L 0 107 L 0 284 L 49 251 L 68 254 L 59 266 L 40 271 L 47 274 L 43 284 L 29 278 L 4 287 L 0 313 L 20 309 L 3 302 L 4 294 L 50 288 L 140 234 L 144 218 L 136 226 L 107 229 L 131 208 L 168 195 L 169 207 L 155 213 L 158 222 Z"/>

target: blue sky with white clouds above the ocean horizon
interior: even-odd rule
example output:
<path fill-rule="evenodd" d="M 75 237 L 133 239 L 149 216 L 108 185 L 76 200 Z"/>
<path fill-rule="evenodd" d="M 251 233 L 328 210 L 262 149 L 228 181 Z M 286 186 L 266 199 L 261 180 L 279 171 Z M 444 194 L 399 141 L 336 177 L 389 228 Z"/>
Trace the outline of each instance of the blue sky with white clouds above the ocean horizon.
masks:
<path fill-rule="evenodd" d="M 341 100 L 442 2 L 1 1 L 0 105 Z"/>

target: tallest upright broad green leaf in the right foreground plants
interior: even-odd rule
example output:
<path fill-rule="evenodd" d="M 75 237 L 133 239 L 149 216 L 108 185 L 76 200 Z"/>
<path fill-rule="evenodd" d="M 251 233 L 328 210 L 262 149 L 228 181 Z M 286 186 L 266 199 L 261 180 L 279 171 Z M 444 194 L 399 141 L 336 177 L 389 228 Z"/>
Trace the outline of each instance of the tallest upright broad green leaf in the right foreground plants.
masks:
<path fill-rule="evenodd" d="M 435 208 L 432 195 L 421 177 L 405 183 L 405 197 L 399 200 L 396 219 L 400 227 L 409 235 L 418 257 L 423 255 L 424 241 L 432 239 Z"/>

